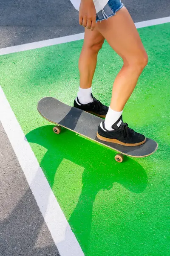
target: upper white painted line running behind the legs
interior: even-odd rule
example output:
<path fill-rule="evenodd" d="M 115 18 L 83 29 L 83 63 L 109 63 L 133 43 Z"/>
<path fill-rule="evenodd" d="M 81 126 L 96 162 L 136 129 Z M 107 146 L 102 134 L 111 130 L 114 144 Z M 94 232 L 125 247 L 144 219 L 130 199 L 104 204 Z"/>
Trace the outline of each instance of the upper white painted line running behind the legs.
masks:
<path fill-rule="evenodd" d="M 139 29 L 147 26 L 159 25 L 159 24 L 168 23 L 168 22 L 170 22 L 170 17 L 164 17 L 164 18 L 154 19 L 154 20 L 145 20 L 142 22 L 137 22 L 135 23 L 135 25 L 136 25 L 136 28 Z M 13 52 L 23 52 L 23 51 L 42 48 L 42 47 L 51 46 L 55 44 L 63 44 L 63 43 L 68 43 L 72 41 L 78 41 L 83 38 L 84 38 L 84 33 L 80 33 L 76 35 L 68 35 L 60 38 L 34 42 L 30 44 L 21 44 L 21 45 L 12 46 L 12 47 L 1 48 L 0 55 L 9 54 Z"/>

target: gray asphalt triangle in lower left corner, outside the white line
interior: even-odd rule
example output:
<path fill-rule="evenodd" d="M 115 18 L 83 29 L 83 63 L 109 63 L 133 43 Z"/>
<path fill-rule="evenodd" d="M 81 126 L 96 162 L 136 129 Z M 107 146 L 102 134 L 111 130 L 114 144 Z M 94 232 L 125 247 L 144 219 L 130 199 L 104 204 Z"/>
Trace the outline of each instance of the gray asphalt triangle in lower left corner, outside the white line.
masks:
<path fill-rule="evenodd" d="M 0 256 L 59 256 L 1 123 Z"/>

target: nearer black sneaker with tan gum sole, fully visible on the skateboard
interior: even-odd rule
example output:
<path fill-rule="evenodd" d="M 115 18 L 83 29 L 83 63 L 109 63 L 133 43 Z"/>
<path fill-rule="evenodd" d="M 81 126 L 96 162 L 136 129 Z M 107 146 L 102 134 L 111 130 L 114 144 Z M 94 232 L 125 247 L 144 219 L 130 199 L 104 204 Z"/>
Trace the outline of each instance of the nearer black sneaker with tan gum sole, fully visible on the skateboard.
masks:
<path fill-rule="evenodd" d="M 98 127 L 97 138 L 125 146 L 138 146 L 146 141 L 144 135 L 133 131 L 127 123 L 123 122 L 122 116 L 112 125 L 112 128 L 113 131 L 106 130 L 105 122 L 101 122 Z"/>

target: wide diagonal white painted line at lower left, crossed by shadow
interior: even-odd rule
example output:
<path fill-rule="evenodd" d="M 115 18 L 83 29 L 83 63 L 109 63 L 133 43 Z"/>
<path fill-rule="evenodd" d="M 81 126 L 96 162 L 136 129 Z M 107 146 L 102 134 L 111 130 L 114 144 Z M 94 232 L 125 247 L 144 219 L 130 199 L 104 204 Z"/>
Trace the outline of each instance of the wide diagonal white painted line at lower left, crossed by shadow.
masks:
<path fill-rule="evenodd" d="M 14 148 L 60 256 L 84 256 L 1 87 L 0 121 Z"/>

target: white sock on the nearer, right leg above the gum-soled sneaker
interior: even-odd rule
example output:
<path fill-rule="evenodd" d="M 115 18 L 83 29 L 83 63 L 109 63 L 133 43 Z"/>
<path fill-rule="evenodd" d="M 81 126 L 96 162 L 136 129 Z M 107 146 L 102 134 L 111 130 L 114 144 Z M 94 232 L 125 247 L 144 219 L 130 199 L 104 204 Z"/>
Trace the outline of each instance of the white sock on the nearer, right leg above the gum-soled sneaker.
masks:
<path fill-rule="evenodd" d="M 105 128 L 108 131 L 114 130 L 112 128 L 112 125 L 119 119 L 119 117 L 122 115 L 123 111 L 114 111 L 109 107 L 108 113 L 105 117 Z M 121 122 L 117 124 L 117 126 L 120 126 Z"/>

